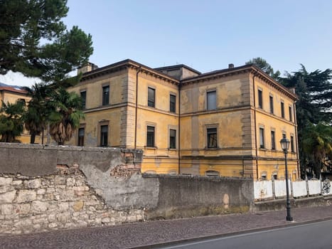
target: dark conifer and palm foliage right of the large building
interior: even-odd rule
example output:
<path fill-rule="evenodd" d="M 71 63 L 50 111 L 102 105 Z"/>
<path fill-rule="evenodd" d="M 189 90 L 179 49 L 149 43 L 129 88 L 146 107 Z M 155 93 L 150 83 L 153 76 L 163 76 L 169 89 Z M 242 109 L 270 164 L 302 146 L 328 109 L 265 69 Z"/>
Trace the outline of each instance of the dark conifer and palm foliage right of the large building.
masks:
<path fill-rule="evenodd" d="M 331 153 L 332 70 L 309 73 L 304 65 L 294 73 L 279 78 L 287 88 L 295 88 L 296 118 L 299 134 L 299 157 L 302 175 L 313 171 L 321 174 L 323 158 Z"/>

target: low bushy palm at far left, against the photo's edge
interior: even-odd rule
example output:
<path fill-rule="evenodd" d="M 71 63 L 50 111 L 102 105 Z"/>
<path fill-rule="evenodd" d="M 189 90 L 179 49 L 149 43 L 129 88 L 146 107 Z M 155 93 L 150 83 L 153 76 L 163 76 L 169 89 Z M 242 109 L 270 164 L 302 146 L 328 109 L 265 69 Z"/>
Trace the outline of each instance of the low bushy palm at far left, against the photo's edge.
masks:
<path fill-rule="evenodd" d="M 18 101 L 10 104 L 2 101 L 0 108 L 0 142 L 17 142 L 16 137 L 23 132 L 23 119 L 25 103 Z"/>

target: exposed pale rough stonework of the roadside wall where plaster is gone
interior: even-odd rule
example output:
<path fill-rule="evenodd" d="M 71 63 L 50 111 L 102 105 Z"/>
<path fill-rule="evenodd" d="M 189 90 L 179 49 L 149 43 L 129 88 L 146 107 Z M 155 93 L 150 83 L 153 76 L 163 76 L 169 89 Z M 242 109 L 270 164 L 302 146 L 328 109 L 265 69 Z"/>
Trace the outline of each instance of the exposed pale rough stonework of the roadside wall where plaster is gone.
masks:
<path fill-rule="evenodd" d="M 77 166 L 55 174 L 0 174 L 0 233 L 109 226 L 144 219 L 144 211 L 115 211 L 86 182 Z"/>

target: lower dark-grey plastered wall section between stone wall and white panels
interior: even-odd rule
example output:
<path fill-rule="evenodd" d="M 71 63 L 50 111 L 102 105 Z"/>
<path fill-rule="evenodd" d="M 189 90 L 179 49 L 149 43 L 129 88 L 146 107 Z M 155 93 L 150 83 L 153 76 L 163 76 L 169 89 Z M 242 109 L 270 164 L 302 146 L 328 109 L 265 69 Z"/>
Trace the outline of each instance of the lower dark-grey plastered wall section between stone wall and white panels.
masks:
<path fill-rule="evenodd" d="M 182 218 L 250 211 L 253 204 L 251 179 L 204 176 L 151 176 L 158 179 L 159 198 L 146 209 L 146 218 Z"/>

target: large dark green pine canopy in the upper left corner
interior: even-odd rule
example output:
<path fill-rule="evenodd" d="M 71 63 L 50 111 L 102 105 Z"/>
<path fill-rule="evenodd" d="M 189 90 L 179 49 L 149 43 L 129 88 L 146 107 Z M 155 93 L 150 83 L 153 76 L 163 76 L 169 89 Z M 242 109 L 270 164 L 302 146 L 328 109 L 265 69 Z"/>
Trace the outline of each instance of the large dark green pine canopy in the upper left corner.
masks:
<path fill-rule="evenodd" d="M 87 63 L 92 37 L 61 18 L 67 0 L 0 0 L 0 73 L 9 70 L 60 83 Z"/>

